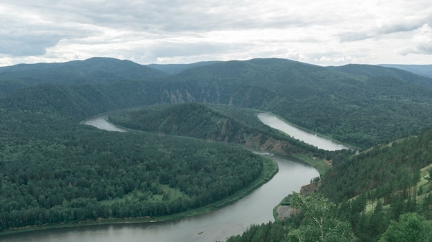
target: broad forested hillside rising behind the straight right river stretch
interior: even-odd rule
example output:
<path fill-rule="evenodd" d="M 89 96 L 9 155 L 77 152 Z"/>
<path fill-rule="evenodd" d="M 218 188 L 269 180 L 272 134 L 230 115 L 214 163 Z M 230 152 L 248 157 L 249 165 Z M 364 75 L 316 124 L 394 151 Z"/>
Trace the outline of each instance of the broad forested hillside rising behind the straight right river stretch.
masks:
<path fill-rule="evenodd" d="M 367 148 L 432 122 L 432 89 L 413 85 L 418 77 L 413 74 L 404 79 L 382 70 L 357 76 L 295 61 L 255 59 L 188 69 L 170 80 L 190 83 L 195 101 L 272 111 Z"/>

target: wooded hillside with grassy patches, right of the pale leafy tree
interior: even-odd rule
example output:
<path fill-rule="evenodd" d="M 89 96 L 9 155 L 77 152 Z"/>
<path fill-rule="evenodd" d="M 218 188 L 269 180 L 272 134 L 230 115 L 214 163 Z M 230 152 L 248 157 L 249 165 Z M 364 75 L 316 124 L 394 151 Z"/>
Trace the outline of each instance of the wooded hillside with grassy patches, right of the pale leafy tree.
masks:
<path fill-rule="evenodd" d="M 337 217 L 351 223 L 360 241 L 397 241 L 401 235 L 391 239 L 397 230 L 430 241 L 432 223 L 425 220 L 432 219 L 431 151 L 432 130 L 375 146 L 333 166 L 321 191 L 340 202 Z"/>

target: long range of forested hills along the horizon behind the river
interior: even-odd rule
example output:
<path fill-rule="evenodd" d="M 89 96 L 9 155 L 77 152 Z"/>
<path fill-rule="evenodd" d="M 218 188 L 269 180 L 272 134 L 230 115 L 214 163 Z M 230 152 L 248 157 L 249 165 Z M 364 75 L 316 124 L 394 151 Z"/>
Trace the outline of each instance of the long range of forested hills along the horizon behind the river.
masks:
<path fill-rule="evenodd" d="M 75 78 L 72 83 L 79 84 L 67 88 L 70 99 L 61 101 L 87 110 L 77 111 L 78 117 L 69 111 L 75 120 L 147 104 L 230 104 L 271 111 L 298 126 L 360 148 L 406 137 L 432 125 L 432 89 L 418 85 L 431 79 L 385 67 L 353 65 L 334 70 L 270 58 L 218 62 L 168 75 L 129 61 L 106 58 L 40 65 L 43 68 L 35 72 L 18 72 L 20 65 L 0 68 L 15 70 L 8 71 L 8 76 L 27 73 L 35 80 L 0 76 L 0 96 L 12 105 L 24 100 L 29 106 L 34 102 L 39 109 L 45 107 L 43 103 L 58 104 L 55 109 L 61 110 L 66 106 L 59 102 L 50 104 L 50 98 L 56 97 L 50 94 L 52 84 L 28 85 L 63 85 Z M 46 73 L 63 73 L 66 77 L 53 78 Z M 28 89 L 23 91 L 22 87 Z M 38 100 L 32 100 L 36 97 Z"/>

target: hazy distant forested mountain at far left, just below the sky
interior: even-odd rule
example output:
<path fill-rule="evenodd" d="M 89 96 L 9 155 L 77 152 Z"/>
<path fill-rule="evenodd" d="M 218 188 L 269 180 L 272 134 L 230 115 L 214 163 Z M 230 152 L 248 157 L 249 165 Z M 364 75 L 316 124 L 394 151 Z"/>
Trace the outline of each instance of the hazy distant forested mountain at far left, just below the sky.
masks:
<path fill-rule="evenodd" d="M 167 76 L 157 69 L 115 58 L 90 58 L 66 63 L 19 64 L 0 67 L 0 94 L 41 83 L 108 83 Z"/>

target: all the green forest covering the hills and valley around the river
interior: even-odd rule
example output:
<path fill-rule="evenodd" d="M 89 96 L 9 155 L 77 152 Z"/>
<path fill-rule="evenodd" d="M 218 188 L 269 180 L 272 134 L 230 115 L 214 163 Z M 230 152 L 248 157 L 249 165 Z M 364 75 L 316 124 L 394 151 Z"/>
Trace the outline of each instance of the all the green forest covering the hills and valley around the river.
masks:
<path fill-rule="evenodd" d="M 284 200 L 291 217 L 228 241 L 431 241 L 431 86 L 400 69 L 283 59 L 0 67 L 0 230 L 224 206 L 277 171 L 249 146 L 331 168 L 316 193 Z M 304 144 L 259 112 L 356 151 Z M 100 113 L 133 132 L 82 123 Z"/>

